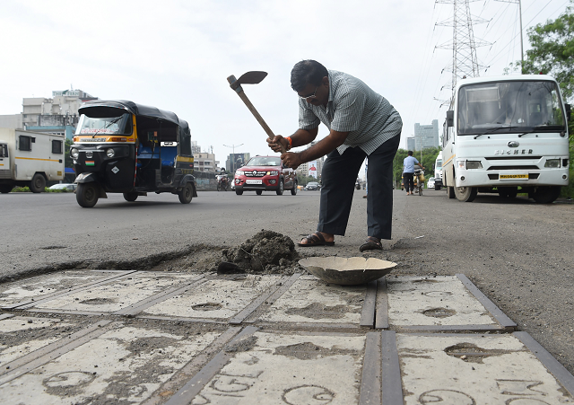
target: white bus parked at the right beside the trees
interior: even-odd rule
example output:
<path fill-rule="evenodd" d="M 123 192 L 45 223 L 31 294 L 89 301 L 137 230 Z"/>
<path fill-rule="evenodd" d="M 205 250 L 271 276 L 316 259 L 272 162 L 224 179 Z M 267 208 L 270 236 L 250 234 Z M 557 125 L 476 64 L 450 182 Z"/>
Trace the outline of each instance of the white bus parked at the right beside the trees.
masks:
<path fill-rule="evenodd" d="M 547 204 L 569 182 L 570 105 L 548 75 L 460 80 L 442 139 L 442 181 L 449 198 L 477 192 L 527 193 Z"/>

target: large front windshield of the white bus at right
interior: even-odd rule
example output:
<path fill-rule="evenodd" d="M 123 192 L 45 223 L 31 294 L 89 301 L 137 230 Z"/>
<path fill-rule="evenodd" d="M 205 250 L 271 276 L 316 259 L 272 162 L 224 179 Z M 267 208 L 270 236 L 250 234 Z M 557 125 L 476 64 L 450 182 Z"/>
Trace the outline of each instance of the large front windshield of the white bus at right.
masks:
<path fill-rule="evenodd" d="M 550 81 L 469 84 L 458 92 L 458 134 L 561 131 L 564 112 Z"/>

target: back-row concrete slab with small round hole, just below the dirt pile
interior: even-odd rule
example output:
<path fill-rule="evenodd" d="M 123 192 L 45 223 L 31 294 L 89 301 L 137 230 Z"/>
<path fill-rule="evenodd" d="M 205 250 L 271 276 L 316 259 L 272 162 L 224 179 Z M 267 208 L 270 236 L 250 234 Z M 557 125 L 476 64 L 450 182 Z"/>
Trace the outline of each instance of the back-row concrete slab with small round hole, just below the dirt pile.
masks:
<path fill-rule="evenodd" d="M 277 288 L 279 275 L 246 275 L 235 279 L 212 279 L 189 288 L 143 311 L 140 317 L 162 316 L 187 320 L 230 320 L 270 289 Z"/>

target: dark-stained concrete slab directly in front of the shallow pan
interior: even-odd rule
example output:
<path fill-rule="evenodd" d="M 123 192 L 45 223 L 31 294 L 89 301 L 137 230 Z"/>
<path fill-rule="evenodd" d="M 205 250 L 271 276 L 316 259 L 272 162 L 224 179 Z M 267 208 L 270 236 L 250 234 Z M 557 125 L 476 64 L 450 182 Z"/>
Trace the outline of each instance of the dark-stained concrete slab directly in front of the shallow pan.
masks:
<path fill-rule="evenodd" d="M 366 292 L 367 285 L 335 286 L 301 276 L 257 321 L 359 327 Z"/>

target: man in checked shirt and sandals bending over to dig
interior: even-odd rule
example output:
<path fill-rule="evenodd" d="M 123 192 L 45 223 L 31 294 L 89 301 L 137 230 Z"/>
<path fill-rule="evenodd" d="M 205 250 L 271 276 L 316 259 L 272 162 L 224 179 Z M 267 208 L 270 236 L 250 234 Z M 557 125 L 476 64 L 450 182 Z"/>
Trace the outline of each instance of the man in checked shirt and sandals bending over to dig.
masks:
<path fill-rule="evenodd" d="M 321 122 L 329 129 L 328 136 L 308 149 L 281 155 L 283 163 L 293 169 L 327 155 L 317 232 L 303 238 L 299 245 L 332 246 L 335 234 L 344 235 L 355 180 L 368 156 L 368 237 L 360 250 L 381 250 L 380 240 L 391 239 L 393 159 L 403 128 L 399 113 L 361 80 L 327 70 L 315 60 L 302 60 L 293 66 L 291 88 L 300 97 L 299 129 L 291 136 L 267 139 L 269 146 L 275 152 L 281 152 L 281 145 L 289 151 L 310 144 Z"/>

